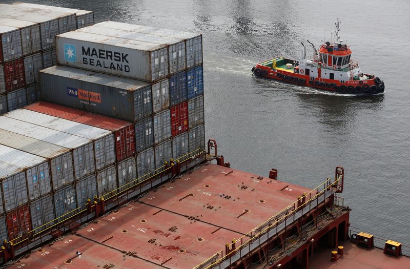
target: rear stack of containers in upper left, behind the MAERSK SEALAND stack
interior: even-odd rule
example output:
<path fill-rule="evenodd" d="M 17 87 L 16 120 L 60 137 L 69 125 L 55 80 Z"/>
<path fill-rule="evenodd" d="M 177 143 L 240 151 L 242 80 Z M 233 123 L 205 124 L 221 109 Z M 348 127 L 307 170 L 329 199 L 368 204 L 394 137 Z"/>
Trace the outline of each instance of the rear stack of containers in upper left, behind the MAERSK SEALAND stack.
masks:
<path fill-rule="evenodd" d="M 56 64 L 55 35 L 92 24 L 92 11 L 0 4 L 0 115 L 39 99 L 38 71 Z"/>

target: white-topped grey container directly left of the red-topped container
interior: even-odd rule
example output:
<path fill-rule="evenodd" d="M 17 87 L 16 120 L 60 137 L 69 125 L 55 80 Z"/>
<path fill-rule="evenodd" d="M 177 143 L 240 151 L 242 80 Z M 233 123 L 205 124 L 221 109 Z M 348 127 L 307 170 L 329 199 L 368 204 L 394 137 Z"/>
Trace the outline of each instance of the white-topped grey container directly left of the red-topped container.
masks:
<path fill-rule="evenodd" d="M 38 126 L 92 140 L 94 145 L 95 169 L 102 169 L 115 162 L 113 132 L 27 109 L 15 110 L 4 114 L 4 116 L 25 122 L 34 122 L 35 125 Z M 90 173 L 94 171 L 95 170 L 92 170 Z"/>

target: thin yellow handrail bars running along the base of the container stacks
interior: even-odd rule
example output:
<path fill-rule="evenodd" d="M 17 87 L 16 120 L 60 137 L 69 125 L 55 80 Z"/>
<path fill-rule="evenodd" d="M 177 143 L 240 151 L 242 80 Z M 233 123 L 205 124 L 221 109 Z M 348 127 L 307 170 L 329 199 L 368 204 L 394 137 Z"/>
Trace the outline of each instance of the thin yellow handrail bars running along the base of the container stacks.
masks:
<path fill-rule="evenodd" d="M 192 152 L 190 152 L 190 153 L 188 153 L 188 154 L 186 154 L 186 155 L 184 155 L 184 156 L 182 156 L 182 157 L 186 157 L 186 156 L 188 156 L 188 155 L 190 155 L 190 154 L 193 154 L 194 152 L 197 152 L 198 150 L 200 150 L 200 148 L 198 148 L 198 149 L 196 149 L 196 150 L 194 150 L 194 151 L 192 151 Z M 204 153 L 204 152 L 206 152 L 206 151 L 205 151 L 205 150 L 202 150 L 202 151 L 196 153 L 195 155 L 193 155 L 193 156 L 191 156 L 191 157 L 189 157 L 189 158 L 186 158 L 185 160 L 181 161 L 180 163 L 183 163 L 183 162 L 185 162 L 185 161 L 187 161 L 187 160 L 189 160 L 189 159 L 191 159 L 191 158 L 194 158 L 194 157 L 196 157 L 196 156 L 198 156 L 198 155 L 200 155 L 200 154 L 202 154 L 202 153 Z M 178 158 L 178 159 L 180 159 L 180 158 Z M 166 167 L 166 166 L 167 166 L 167 165 L 163 165 L 162 167 L 160 167 L 160 168 L 158 168 L 158 169 L 156 169 L 156 170 L 154 170 L 154 171 L 157 171 L 157 170 L 159 170 L 159 169 L 161 169 L 161 168 L 163 168 L 163 167 Z M 161 172 L 158 172 L 158 173 L 156 173 L 156 174 L 154 174 L 154 175 L 152 175 L 152 176 L 146 178 L 145 180 L 139 181 L 139 182 L 137 182 L 136 184 L 132 185 L 131 187 L 129 187 L 129 188 L 125 189 L 125 190 L 122 190 L 122 191 L 120 191 L 120 192 L 118 192 L 118 193 L 113 194 L 112 196 L 108 197 L 106 200 L 109 200 L 109 199 L 111 199 L 111 198 L 113 198 L 113 197 L 115 197 L 115 196 L 117 196 L 117 195 L 119 195 L 119 194 L 121 194 L 121 193 L 124 193 L 125 191 L 127 191 L 127 190 L 129 190 L 129 189 L 132 189 L 132 188 L 136 187 L 137 185 L 142 184 L 142 183 L 144 183 L 145 181 L 147 181 L 147 180 L 149 180 L 149 179 L 151 179 L 151 178 L 153 178 L 153 177 L 155 177 L 155 176 L 157 176 L 157 175 L 159 175 L 159 174 L 161 174 L 161 173 L 164 173 L 165 171 L 167 171 L 167 170 L 169 170 L 169 169 L 171 169 L 171 168 L 172 168 L 172 167 L 170 166 L 170 167 L 168 167 L 167 169 L 162 170 Z M 109 192 L 109 193 L 107 193 L 107 194 L 105 194 L 105 195 L 102 195 L 102 196 L 98 197 L 97 199 L 98 199 L 98 200 L 104 199 L 104 197 L 106 197 L 108 194 L 111 194 L 111 193 L 113 193 L 113 192 L 116 192 L 116 191 L 118 191 L 119 189 L 122 189 L 122 188 L 124 188 L 125 186 L 130 185 L 130 184 L 132 184 L 133 182 L 138 181 L 139 179 L 141 179 L 141 178 L 143 178 L 143 177 L 145 177 L 145 176 L 147 176 L 147 175 L 149 175 L 149 174 L 150 174 L 150 173 L 145 174 L 144 176 L 141 176 L 141 177 L 139 177 L 139 178 L 137 178 L 137 179 L 134 179 L 134 180 L 131 181 L 131 182 L 128 182 L 128 183 L 126 183 L 126 184 L 124 184 L 124 185 L 121 185 L 121 187 L 119 187 L 119 188 L 115 189 L 114 191 L 111 191 L 111 192 Z M 87 203 L 86 203 L 86 204 L 87 204 Z M 95 204 L 91 205 L 91 208 L 94 208 L 94 206 L 95 206 Z M 52 227 L 54 227 L 54 226 L 56 226 L 56 225 L 58 225 L 58 224 L 60 224 L 60 223 L 62 223 L 62 222 L 65 222 L 65 221 L 67 221 L 67 220 L 69 220 L 69 219 L 71 219 L 71 218 L 73 218 L 73 217 L 75 217 L 75 216 L 77 216 L 77 215 L 79 215 L 79 214 L 81 214 L 81 213 L 83 213 L 83 212 L 89 210 L 88 208 L 86 208 L 86 209 L 84 209 L 84 210 L 81 210 L 81 211 L 79 211 L 79 212 L 73 214 L 72 216 L 69 216 L 68 218 L 64 218 L 65 216 L 70 215 L 70 214 L 72 214 L 73 212 L 80 210 L 81 208 L 83 208 L 83 206 L 79 206 L 78 208 L 76 208 L 76 209 L 74 209 L 74 210 L 72 210 L 72 211 L 70 211 L 70 212 L 67 212 L 67 213 L 65 213 L 64 215 L 61 215 L 61 216 L 59 216 L 59 217 L 57 217 L 57 218 L 55 218 L 55 219 L 53 219 L 53 220 L 51 220 L 51 221 L 49 221 L 49 222 L 47 222 L 47 223 L 41 225 L 41 226 L 38 226 L 38 227 L 36 227 L 35 229 L 33 229 L 33 230 L 27 232 L 27 235 L 32 234 L 32 236 L 33 236 L 33 238 L 34 238 L 34 237 L 36 237 L 36 236 L 39 235 L 39 234 L 42 234 L 42 233 L 44 233 L 44 232 L 46 232 L 46 231 L 51 230 Z M 59 219 L 61 219 L 61 220 L 59 220 Z M 59 220 L 59 221 L 58 221 L 58 220 Z M 55 221 L 56 221 L 56 223 L 54 223 L 54 224 L 51 225 L 51 226 L 48 226 L 46 229 L 41 230 L 41 231 L 38 231 L 38 232 L 35 232 L 35 231 L 41 229 L 42 227 L 44 227 L 44 226 L 46 226 L 46 225 L 48 225 L 48 224 L 50 224 L 50 223 L 53 223 L 53 222 L 55 222 Z M 18 237 L 16 237 L 16 238 L 12 239 L 12 240 L 10 240 L 10 241 L 7 241 L 7 243 L 13 243 L 13 245 L 18 245 L 18 244 L 20 244 L 20 243 L 23 243 L 23 242 L 29 240 L 29 237 L 26 237 L 25 239 L 14 243 L 15 241 L 17 241 L 18 239 L 20 239 L 20 238 L 22 238 L 22 237 L 23 237 L 23 235 L 20 235 L 20 236 L 18 236 Z M 1 252 L 3 252 L 3 250 L 0 250 L 0 253 L 1 253 Z"/>

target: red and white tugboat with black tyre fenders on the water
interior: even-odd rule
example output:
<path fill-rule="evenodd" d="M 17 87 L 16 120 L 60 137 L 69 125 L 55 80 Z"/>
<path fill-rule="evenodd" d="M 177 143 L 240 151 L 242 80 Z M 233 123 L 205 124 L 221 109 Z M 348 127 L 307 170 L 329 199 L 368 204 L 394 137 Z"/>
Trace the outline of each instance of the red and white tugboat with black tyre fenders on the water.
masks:
<path fill-rule="evenodd" d="M 384 92 L 379 77 L 362 73 L 357 60 L 351 59 L 350 46 L 339 36 L 339 18 L 335 23 L 335 42 L 325 42 L 319 51 L 312 45 L 314 54 L 306 58 L 303 45 L 301 59 L 278 56 L 262 61 L 252 68 L 258 77 L 272 78 L 296 85 L 342 94 L 377 94 Z"/>

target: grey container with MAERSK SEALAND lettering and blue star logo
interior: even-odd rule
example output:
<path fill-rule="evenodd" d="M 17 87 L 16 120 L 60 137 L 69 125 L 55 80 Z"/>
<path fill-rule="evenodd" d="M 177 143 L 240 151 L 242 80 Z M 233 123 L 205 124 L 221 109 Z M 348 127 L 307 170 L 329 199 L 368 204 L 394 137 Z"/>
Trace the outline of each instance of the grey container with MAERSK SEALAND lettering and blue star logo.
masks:
<path fill-rule="evenodd" d="M 168 76 L 165 45 L 79 31 L 57 35 L 57 63 L 144 81 Z"/>

